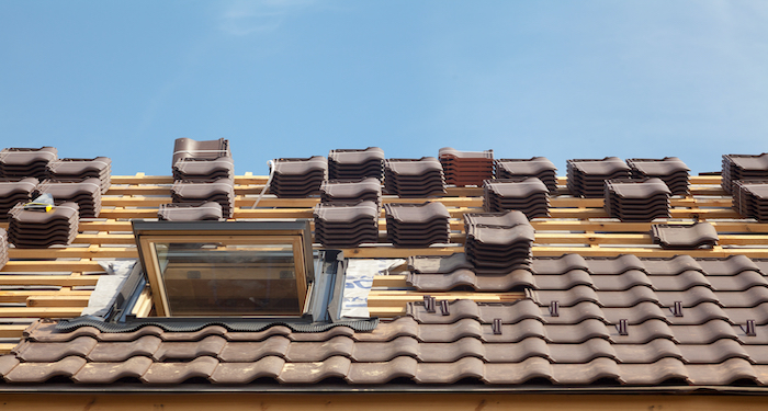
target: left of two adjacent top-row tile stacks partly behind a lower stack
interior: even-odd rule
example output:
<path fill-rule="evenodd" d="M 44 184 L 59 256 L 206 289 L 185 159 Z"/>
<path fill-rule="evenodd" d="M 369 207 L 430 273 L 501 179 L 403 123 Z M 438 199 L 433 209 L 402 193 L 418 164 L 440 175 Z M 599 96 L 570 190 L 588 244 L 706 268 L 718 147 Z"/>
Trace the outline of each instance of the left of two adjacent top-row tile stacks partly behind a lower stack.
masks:
<path fill-rule="evenodd" d="M 605 181 L 629 179 L 630 167 L 618 157 L 602 160 L 568 160 L 568 191 L 577 197 L 599 198 L 605 193 Z"/>

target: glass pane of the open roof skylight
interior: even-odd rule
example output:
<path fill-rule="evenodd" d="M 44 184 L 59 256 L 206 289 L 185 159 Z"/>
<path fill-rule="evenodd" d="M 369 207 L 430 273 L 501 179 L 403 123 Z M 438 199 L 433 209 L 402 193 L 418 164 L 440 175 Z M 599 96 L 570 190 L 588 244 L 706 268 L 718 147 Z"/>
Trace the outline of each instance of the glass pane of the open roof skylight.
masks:
<path fill-rule="evenodd" d="M 171 316 L 301 313 L 292 244 L 153 244 Z"/>

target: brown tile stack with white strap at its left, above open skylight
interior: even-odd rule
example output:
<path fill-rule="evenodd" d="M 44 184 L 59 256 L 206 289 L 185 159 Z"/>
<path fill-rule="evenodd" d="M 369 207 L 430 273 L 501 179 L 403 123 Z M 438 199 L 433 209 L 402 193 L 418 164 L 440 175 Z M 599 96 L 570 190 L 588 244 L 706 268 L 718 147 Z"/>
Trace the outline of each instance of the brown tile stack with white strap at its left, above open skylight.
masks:
<path fill-rule="evenodd" d="M 328 176 L 328 162 L 321 156 L 276 159 L 272 172 L 272 194 L 285 198 L 308 197 L 320 194 L 320 185 Z"/>

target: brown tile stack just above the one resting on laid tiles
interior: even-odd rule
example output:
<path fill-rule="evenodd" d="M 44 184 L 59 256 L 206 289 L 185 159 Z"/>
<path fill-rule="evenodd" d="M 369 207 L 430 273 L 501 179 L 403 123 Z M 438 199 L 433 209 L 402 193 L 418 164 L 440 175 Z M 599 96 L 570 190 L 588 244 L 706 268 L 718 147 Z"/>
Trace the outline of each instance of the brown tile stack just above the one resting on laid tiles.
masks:
<path fill-rule="evenodd" d="M 483 207 L 497 213 L 517 209 L 528 218 L 550 215 L 549 189 L 538 178 L 486 180 L 483 184 Z"/>

